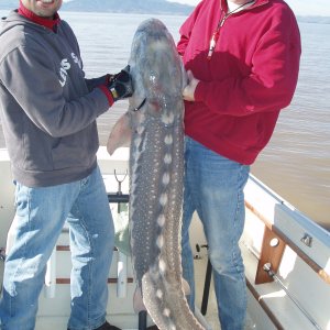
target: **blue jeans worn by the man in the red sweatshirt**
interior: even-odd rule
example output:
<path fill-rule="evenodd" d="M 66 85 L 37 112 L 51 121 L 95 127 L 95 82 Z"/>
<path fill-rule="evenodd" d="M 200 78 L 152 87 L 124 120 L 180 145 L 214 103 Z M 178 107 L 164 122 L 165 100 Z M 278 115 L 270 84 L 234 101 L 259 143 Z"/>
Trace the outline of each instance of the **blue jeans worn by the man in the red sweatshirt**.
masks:
<path fill-rule="evenodd" d="M 190 285 L 194 310 L 194 260 L 189 226 L 197 211 L 209 246 L 222 330 L 244 329 L 246 286 L 239 248 L 244 227 L 244 195 L 250 166 L 230 161 L 186 138 L 183 219 L 183 272 Z"/>

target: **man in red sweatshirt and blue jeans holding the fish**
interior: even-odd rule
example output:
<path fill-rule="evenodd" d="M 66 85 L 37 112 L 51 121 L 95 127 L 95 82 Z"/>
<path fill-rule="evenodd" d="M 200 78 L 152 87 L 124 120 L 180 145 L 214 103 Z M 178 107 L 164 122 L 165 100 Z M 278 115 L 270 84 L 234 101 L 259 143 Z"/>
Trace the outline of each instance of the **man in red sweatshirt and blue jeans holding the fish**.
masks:
<path fill-rule="evenodd" d="M 301 53 L 295 15 L 282 0 L 202 0 L 180 28 L 188 72 L 184 276 L 194 265 L 188 228 L 204 223 L 221 329 L 243 329 L 246 310 L 239 240 L 250 165 L 268 143 L 297 85 Z"/>

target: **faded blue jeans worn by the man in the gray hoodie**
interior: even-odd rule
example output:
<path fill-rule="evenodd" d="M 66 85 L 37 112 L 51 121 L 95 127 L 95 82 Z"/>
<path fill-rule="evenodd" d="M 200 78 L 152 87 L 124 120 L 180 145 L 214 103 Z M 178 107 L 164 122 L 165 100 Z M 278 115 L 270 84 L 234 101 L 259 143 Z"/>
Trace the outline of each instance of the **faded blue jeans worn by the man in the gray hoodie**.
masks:
<path fill-rule="evenodd" d="M 15 199 L 18 229 L 6 260 L 0 328 L 34 329 L 46 263 L 66 220 L 73 261 L 68 327 L 101 326 L 114 233 L 99 167 L 85 179 L 53 187 L 29 188 L 16 183 Z"/>

